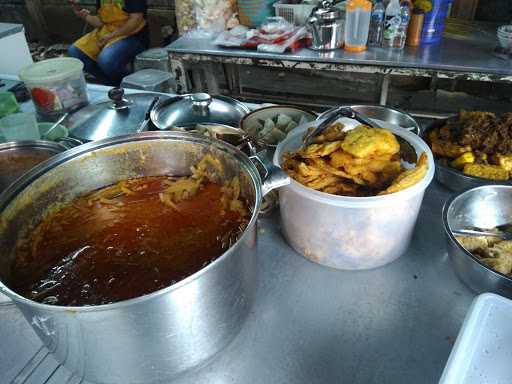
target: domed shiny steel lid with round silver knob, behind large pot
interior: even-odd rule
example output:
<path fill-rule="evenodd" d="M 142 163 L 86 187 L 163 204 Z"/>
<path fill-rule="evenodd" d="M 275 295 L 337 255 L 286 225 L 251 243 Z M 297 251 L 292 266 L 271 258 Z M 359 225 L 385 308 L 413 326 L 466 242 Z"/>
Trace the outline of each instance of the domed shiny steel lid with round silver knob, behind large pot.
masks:
<path fill-rule="evenodd" d="M 240 121 L 250 110 L 227 96 L 194 93 L 177 96 L 160 103 L 151 112 L 151 121 L 159 129 L 190 127 L 216 123 L 240 127 Z"/>

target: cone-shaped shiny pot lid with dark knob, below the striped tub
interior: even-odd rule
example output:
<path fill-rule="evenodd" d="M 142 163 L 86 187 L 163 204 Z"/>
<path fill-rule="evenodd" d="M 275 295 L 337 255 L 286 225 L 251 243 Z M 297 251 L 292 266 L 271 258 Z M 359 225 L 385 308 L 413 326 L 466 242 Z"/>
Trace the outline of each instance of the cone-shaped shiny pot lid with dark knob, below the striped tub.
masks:
<path fill-rule="evenodd" d="M 82 141 L 95 141 L 137 133 L 155 97 L 154 93 L 124 94 L 122 88 L 108 92 L 110 100 L 90 104 L 72 113 L 66 122 L 70 135 Z"/>

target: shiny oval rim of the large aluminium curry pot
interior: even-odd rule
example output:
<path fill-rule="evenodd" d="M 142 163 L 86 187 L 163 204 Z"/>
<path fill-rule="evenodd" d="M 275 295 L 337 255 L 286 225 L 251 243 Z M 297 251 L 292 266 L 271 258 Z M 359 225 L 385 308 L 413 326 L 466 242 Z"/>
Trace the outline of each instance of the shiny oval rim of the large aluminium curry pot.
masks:
<path fill-rule="evenodd" d="M 234 251 L 235 248 L 239 246 L 241 242 L 243 242 L 248 234 L 248 229 L 256 225 L 256 220 L 258 219 L 259 210 L 261 207 L 262 200 L 262 185 L 263 182 L 261 180 L 261 176 L 258 173 L 256 166 L 252 163 L 252 161 L 240 150 L 236 147 L 223 142 L 221 140 L 197 136 L 188 134 L 186 132 L 175 132 L 175 131 L 163 131 L 163 132 L 144 132 L 138 134 L 117 136 L 114 138 L 108 138 L 100 141 L 90 142 L 84 145 L 80 145 L 68 151 L 65 151 L 61 154 L 58 154 L 42 163 L 32 168 L 29 172 L 24 174 L 14 183 L 12 183 L 1 195 L 0 195 L 0 215 L 5 210 L 9 204 L 12 203 L 16 199 L 19 193 L 28 188 L 30 184 L 47 173 L 48 171 L 58 167 L 59 165 L 71 161 L 72 159 L 84 155 L 86 153 L 91 153 L 98 149 L 108 148 L 115 145 L 125 144 L 125 143 L 133 143 L 133 142 L 146 142 L 151 140 L 167 140 L 167 139 L 182 139 L 187 142 L 206 144 L 206 145 L 215 145 L 220 149 L 227 150 L 236 160 L 239 160 L 247 173 L 249 174 L 253 185 L 255 187 L 255 201 L 253 205 L 253 212 L 251 215 L 251 220 L 247 224 L 242 236 L 238 238 L 238 240 L 224 253 L 222 253 L 218 258 L 214 261 L 210 262 L 204 268 L 194 272 L 190 276 L 178 281 L 175 284 L 171 284 L 168 287 L 159 289 L 157 291 L 148 293 L 146 295 L 137 296 L 132 299 L 122 300 L 110 304 L 100 304 L 100 305 L 86 305 L 86 306 L 62 306 L 62 305 L 52 305 L 52 304 L 43 304 L 37 301 L 30 300 L 10 289 L 3 281 L 0 280 L 0 293 L 5 294 L 14 302 L 20 302 L 22 304 L 39 307 L 44 309 L 45 311 L 50 312 L 98 312 L 98 311 L 108 311 L 111 309 L 122 308 L 130 305 L 135 305 L 147 300 L 152 300 L 169 292 L 175 291 L 181 288 L 184 285 L 191 283 L 196 280 L 203 274 L 205 274 L 210 269 L 216 268 L 220 263 L 224 262 L 224 260 L 229 257 Z"/>

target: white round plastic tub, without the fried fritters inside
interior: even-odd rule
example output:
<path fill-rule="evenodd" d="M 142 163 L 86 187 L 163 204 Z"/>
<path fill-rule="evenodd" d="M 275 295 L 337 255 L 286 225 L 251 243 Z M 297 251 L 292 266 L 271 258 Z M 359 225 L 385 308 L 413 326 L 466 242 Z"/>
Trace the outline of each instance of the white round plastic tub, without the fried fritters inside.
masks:
<path fill-rule="evenodd" d="M 344 124 L 346 119 L 340 119 Z M 352 123 L 350 120 L 348 125 Z M 306 130 L 294 129 L 274 154 L 280 166 L 284 153 L 297 149 Z M 389 128 L 418 154 L 426 152 L 429 170 L 422 181 L 385 196 L 346 197 L 315 191 L 291 180 L 279 189 L 282 231 L 288 243 L 307 259 L 337 269 L 370 269 L 400 257 L 409 246 L 425 189 L 434 177 L 428 145 L 402 128 Z"/>

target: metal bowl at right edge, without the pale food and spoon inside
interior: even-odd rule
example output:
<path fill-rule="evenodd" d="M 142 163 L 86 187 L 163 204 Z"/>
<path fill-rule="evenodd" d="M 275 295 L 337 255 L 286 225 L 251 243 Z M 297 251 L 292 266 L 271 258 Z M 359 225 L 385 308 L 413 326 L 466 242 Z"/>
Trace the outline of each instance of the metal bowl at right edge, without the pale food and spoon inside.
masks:
<path fill-rule="evenodd" d="M 448 254 L 459 278 L 474 291 L 512 298 L 512 278 L 496 272 L 455 239 L 452 230 L 491 229 L 512 221 L 512 186 L 485 185 L 452 197 L 443 207 Z"/>

